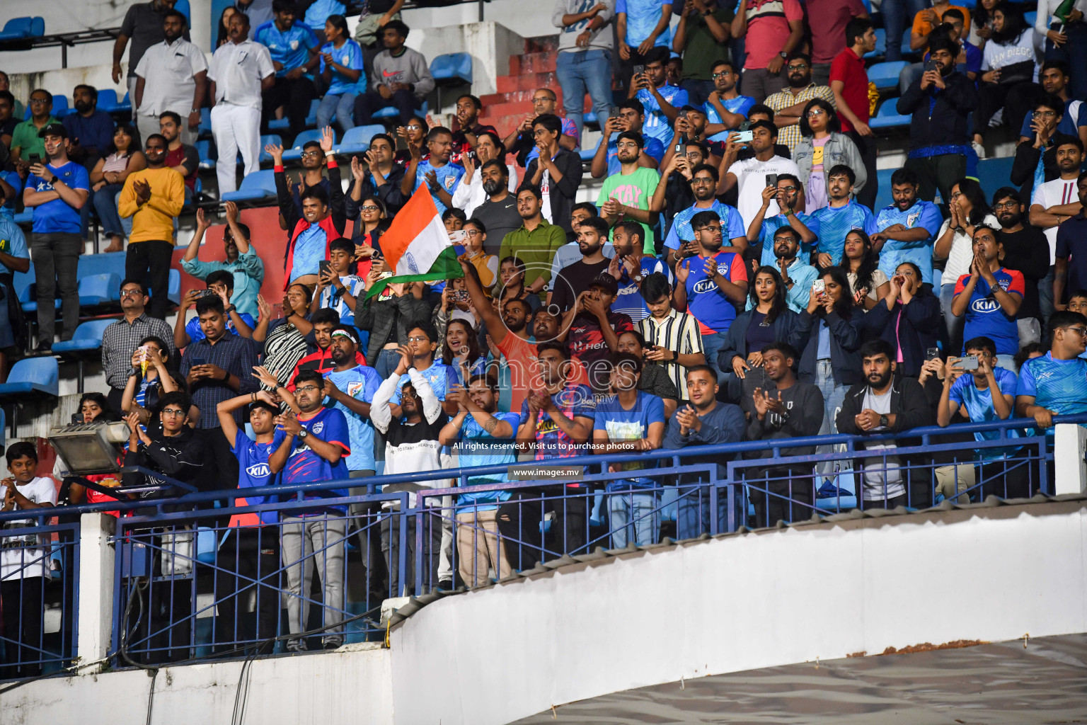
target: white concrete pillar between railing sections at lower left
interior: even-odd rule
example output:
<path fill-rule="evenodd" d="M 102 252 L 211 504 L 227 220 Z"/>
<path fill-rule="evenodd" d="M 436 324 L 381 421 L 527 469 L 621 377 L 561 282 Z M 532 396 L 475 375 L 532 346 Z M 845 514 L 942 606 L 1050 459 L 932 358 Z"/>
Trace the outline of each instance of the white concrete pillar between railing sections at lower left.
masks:
<path fill-rule="evenodd" d="M 113 575 L 116 550 L 110 537 L 117 520 L 108 513 L 85 513 L 79 517 L 79 662 L 96 662 L 110 653 L 113 629 Z M 82 670 L 101 672 L 104 664 Z"/>

